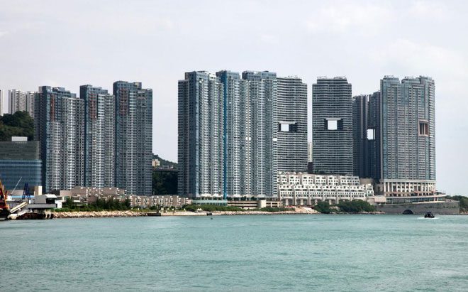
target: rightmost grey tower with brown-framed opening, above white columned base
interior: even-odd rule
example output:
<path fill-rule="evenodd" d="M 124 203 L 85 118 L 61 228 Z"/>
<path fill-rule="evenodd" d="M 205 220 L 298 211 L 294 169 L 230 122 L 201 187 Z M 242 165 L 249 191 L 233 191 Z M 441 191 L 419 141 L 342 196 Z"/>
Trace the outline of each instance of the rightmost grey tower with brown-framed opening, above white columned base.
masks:
<path fill-rule="evenodd" d="M 380 90 L 380 191 L 430 195 L 435 192 L 434 81 L 386 76 Z"/>

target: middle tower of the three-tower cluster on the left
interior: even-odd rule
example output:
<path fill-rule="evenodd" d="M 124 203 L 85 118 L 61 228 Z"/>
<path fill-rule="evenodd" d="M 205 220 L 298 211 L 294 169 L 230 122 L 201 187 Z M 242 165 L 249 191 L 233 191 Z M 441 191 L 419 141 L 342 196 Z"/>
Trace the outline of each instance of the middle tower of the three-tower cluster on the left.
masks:
<path fill-rule="evenodd" d="M 79 97 L 84 100 L 84 185 L 113 187 L 116 99 L 91 85 L 80 86 Z"/>

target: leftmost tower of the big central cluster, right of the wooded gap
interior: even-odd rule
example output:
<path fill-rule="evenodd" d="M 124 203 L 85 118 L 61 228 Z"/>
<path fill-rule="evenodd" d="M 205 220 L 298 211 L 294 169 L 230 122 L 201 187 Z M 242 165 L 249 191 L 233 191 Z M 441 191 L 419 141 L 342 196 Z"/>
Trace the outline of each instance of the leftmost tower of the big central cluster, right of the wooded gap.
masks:
<path fill-rule="evenodd" d="M 223 195 L 223 85 L 208 72 L 179 80 L 179 195 Z"/>

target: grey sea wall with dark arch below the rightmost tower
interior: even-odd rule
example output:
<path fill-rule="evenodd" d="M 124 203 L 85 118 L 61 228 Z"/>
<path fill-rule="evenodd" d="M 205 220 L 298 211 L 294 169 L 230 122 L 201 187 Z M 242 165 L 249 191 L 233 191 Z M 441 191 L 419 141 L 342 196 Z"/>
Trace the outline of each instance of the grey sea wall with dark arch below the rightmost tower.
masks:
<path fill-rule="evenodd" d="M 410 210 L 413 212 L 413 214 L 425 214 L 426 212 L 433 212 L 434 214 L 440 215 L 459 215 L 460 213 L 458 201 L 377 205 L 376 210 L 385 212 L 385 214 L 403 214 L 403 212 L 406 210 Z"/>

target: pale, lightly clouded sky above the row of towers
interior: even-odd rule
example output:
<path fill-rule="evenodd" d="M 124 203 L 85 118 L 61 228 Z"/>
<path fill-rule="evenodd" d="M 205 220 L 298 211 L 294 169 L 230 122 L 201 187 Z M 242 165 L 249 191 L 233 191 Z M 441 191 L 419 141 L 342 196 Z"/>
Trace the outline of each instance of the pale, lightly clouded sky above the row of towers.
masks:
<path fill-rule="evenodd" d="M 435 80 L 438 189 L 468 195 L 468 2 L 0 0 L 0 89 L 116 80 L 153 90 L 153 151 L 177 161 L 177 81 L 194 70 Z M 311 133 L 309 128 L 309 139 Z"/>

